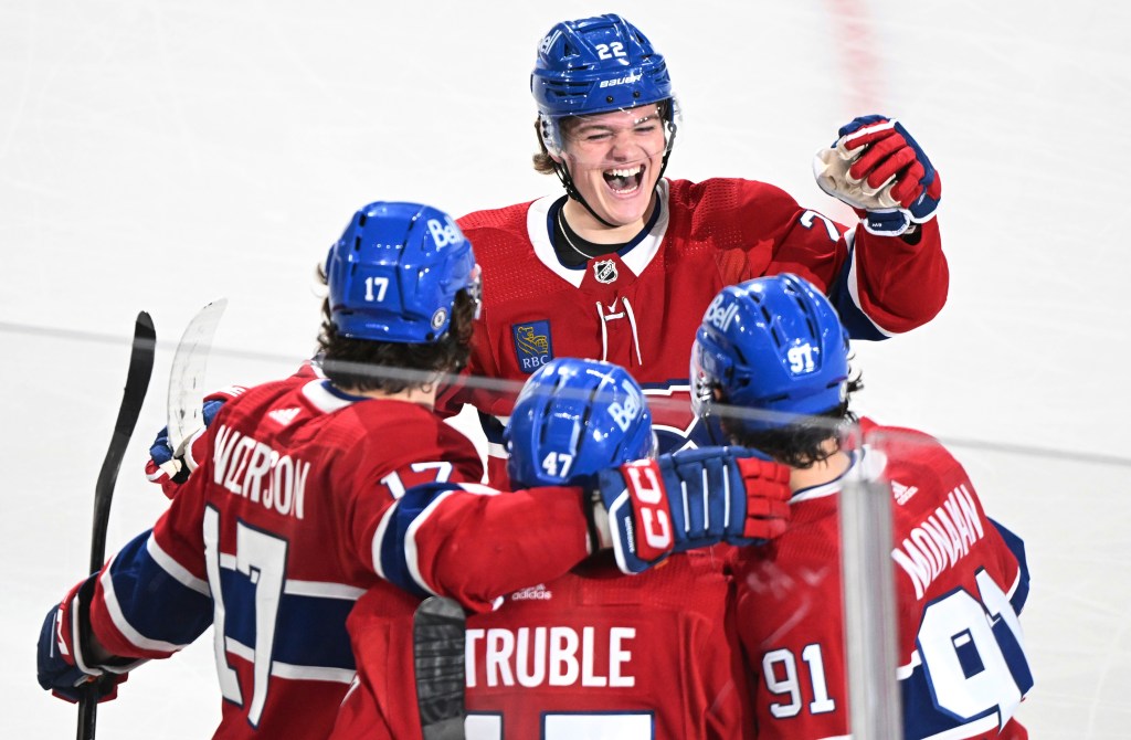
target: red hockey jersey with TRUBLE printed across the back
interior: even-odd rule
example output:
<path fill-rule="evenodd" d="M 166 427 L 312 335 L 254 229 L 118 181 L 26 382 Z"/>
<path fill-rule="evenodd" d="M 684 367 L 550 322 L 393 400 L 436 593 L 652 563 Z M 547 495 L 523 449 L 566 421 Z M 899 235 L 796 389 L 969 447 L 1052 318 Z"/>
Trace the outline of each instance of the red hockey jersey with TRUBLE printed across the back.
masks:
<path fill-rule="evenodd" d="M 638 576 L 592 561 L 467 620 L 468 740 L 751 738 L 749 694 L 727 620 L 722 556 L 675 556 Z M 357 602 L 359 685 L 335 739 L 418 738 L 412 610 Z"/>

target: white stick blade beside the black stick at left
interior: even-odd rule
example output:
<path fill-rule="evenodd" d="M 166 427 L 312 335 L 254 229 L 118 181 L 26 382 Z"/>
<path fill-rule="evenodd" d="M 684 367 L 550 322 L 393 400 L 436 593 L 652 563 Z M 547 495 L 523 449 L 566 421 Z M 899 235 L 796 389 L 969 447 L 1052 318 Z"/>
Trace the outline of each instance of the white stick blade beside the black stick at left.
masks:
<path fill-rule="evenodd" d="M 169 446 L 174 458 L 184 454 L 188 440 L 205 425 L 205 367 L 226 307 L 227 299 L 222 298 L 200 309 L 176 345 L 169 373 Z"/>

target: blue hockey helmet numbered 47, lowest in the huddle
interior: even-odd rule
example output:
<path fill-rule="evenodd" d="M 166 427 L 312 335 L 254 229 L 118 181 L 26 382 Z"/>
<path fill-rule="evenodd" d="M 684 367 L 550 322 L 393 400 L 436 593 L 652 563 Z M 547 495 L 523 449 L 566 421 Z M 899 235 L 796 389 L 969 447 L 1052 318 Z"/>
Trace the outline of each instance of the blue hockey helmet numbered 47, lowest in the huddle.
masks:
<path fill-rule="evenodd" d="M 653 454 L 651 413 L 624 368 L 559 358 L 523 386 L 503 433 L 517 487 L 563 485 Z"/>

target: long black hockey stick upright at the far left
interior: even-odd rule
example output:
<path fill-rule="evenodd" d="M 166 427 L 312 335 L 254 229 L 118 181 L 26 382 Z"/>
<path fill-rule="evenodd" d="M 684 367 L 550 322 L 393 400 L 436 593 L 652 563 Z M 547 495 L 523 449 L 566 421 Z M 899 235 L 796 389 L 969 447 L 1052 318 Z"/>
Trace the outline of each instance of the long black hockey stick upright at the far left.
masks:
<path fill-rule="evenodd" d="M 133 327 L 133 349 L 130 351 L 130 368 L 126 373 L 126 388 L 122 391 L 122 403 L 118 407 L 118 421 L 114 422 L 114 433 L 110 438 L 110 448 L 102 461 L 98 481 L 94 487 L 94 524 L 90 528 L 90 568 L 94 573 L 102 568 L 106 558 L 106 527 L 110 524 L 110 502 L 114 498 L 114 483 L 118 471 L 122 466 L 122 457 L 129 446 L 133 428 L 141 414 L 141 404 L 149 388 L 149 377 L 153 375 L 154 351 L 157 334 L 153 328 L 153 319 L 145 311 L 138 313 Z M 94 740 L 97 720 L 98 694 L 95 685 L 84 687 L 83 697 L 78 703 L 78 740 Z"/>

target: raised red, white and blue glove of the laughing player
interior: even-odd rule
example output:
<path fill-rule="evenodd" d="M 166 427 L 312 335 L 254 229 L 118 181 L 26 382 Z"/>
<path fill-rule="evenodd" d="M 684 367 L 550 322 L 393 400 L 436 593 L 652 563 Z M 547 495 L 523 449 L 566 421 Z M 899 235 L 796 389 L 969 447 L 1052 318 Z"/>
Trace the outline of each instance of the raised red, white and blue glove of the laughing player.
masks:
<path fill-rule="evenodd" d="M 865 230 L 898 236 L 934 216 L 942 180 L 901 123 L 864 115 L 837 135 L 830 148 L 817 153 L 813 174 L 821 190 L 866 212 Z"/>

